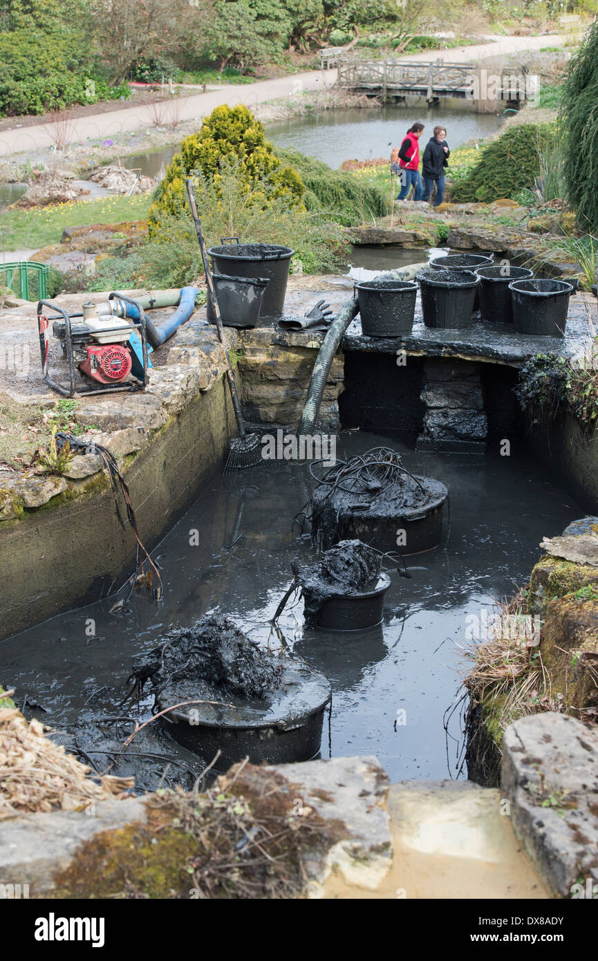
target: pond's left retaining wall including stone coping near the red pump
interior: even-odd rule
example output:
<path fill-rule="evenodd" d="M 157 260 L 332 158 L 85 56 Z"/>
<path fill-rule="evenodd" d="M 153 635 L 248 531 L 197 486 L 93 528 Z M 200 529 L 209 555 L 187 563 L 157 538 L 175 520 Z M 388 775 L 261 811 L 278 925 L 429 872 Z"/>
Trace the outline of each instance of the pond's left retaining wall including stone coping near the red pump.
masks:
<path fill-rule="evenodd" d="M 200 366 L 159 368 L 152 386 L 153 393 L 135 402 L 90 398 L 78 412 L 89 423 L 91 408 L 92 423 L 103 428 L 90 439 L 116 455 L 148 550 L 222 467 L 235 432 L 219 362 L 209 378 Z M 132 572 L 136 541 L 131 528 L 118 523 L 107 472 L 64 487 L 47 505 L 0 525 L 0 638 L 106 596 Z M 124 514 L 122 500 L 120 507 Z"/>

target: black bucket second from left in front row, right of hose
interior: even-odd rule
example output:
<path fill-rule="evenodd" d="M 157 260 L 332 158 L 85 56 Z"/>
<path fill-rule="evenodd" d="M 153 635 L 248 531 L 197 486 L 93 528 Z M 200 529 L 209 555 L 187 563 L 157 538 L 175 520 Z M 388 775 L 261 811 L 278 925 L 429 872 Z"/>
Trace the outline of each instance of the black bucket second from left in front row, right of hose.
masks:
<path fill-rule="evenodd" d="M 426 327 L 471 327 L 480 278 L 467 270 L 422 270 L 417 275 Z"/>

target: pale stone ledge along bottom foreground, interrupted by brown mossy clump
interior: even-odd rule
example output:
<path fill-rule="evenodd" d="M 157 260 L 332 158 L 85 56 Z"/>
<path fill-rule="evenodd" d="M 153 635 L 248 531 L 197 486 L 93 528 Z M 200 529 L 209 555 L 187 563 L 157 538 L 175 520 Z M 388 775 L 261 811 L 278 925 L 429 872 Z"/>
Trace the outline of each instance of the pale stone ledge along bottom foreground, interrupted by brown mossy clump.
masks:
<path fill-rule="evenodd" d="M 388 778 L 377 758 L 337 757 L 272 767 L 247 765 L 244 770 L 243 765 L 237 765 L 219 779 L 218 786 L 226 792 L 235 785 L 232 797 L 245 796 L 250 804 L 259 805 L 269 792 L 280 790 L 281 782 L 288 799 L 288 816 L 296 816 L 296 830 L 301 831 L 301 816 L 313 811 L 320 823 L 331 823 L 331 837 L 343 835 L 332 847 L 325 832 L 325 840 L 319 841 L 317 847 L 311 840 L 303 857 L 303 896 L 321 898 L 323 884 L 333 870 L 339 870 L 352 883 L 375 889 L 390 867 L 392 854 L 384 806 Z M 295 794 L 297 798 L 293 800 Z M 108 849 L 109 835 L 117 839 L 121 836 L 117 832 L 151 821 L 147 804 L 151 797 L 101 801 L 88 811 L 28 814 L 4 821 L 0 832 L 3 883 L 29 884 L 31 898 L 46 896 L 57 888 L 57 883 L 59 892 L 62 891 L 67 877 L 74 884 L 74 888 L 69 888 L 69 896 L 76 897 L 77 885 L 81 883 L 93 890 L 88 875 L 88 843 L 102 834 L 98 842 Z M 181 839 L 181 845 L 173 849 L 173 860 L 193 855 L 197 842 L 190 834 L 182 833 Z M 163 894 L 170 896 L 174 895 Z"/>

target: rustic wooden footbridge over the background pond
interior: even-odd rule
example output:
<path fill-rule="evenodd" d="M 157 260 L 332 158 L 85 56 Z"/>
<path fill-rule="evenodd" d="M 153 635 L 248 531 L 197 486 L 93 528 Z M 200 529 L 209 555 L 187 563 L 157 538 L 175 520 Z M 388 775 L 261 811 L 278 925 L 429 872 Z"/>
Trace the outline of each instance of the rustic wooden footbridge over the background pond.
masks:
<path fill-rule="evenodd" d="M 336 86 L 381 100 L 404 100 L 414 94 L 425 97 L 428 103 L 435 103 L 440 97 L 512 103 L 525 100 L 528 80 L 523 70 L 496 75 L 481 69 L 479 63 L 339 57 Z"/>

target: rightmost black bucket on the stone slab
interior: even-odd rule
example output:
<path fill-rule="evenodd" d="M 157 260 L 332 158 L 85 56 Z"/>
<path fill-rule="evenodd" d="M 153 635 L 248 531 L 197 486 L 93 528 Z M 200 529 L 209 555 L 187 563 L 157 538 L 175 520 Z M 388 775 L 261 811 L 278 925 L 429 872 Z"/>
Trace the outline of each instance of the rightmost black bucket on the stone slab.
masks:
<path fill-rule="evenodd" d="M 565 281 L 511 281 L 512 316 L 521 333 L 562 337 L 573 287 Z"/>

